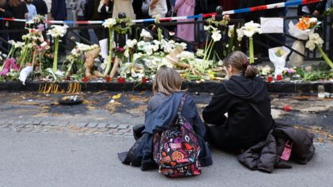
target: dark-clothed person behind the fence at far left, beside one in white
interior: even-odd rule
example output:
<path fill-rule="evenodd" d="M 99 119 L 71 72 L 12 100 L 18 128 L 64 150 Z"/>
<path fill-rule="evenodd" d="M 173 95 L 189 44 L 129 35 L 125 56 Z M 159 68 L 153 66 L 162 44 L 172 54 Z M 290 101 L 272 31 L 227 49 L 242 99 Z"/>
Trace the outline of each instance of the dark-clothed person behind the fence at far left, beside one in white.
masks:
<path fill-rule="evenodd" d="M 28 8 L 26 8 L 26 3 L 21 0 L 9 0 L 8 5 L 8 11 L 11 12 L 13 18 L 28 19 Z M 20 32 L 9 33 L 9 38 L 14 41 L 22 41 L 25 24 L 26 23 L 22 21 L 8 21 L 10 30 L 22 29 Z"/>

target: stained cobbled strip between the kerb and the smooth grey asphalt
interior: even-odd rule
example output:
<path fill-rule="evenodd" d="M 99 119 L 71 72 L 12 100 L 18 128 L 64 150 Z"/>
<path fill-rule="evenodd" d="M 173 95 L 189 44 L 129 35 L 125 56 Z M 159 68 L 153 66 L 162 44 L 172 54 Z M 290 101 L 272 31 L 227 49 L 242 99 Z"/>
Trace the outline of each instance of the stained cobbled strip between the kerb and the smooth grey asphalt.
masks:
<path fill-rule="evenodd" d="M 82 105 L 59 105 L 65 94 L 0 92 L 0 132 L 67 133 L 87 136 L 132 136 L 134 125 L 144 123 L 149 92 L 78 94 Z M 191 94 L 201 110 L 211 94 Z M 67 95 L 66 95 L 67 96 Z M 120 96 L 120 97 L 119 97 Z M 310 96 L 271 95 L 276 121 L 296 125 L 316 134 L 321 141 L 333 139 L 333 100 Z M 291 111 L 284 111 L 289 105 Z"/>

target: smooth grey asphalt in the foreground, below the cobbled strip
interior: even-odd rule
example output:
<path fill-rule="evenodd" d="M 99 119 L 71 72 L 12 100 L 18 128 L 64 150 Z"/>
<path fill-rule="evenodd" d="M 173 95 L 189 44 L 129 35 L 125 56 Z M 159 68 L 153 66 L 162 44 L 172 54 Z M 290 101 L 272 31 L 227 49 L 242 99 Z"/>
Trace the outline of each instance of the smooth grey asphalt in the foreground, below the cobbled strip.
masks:
<path fill-rule="evenodd" d="M 212 151 L 214 165 L 203 175 L 167 179 L 157 170 L 123 166 L 117 152 L 128 136 L 0 132 L 0 186 L 332 186 L 333 145 L 316 145 L 306 166 L 273 174 L 250 171 L 234 155 Z"/>

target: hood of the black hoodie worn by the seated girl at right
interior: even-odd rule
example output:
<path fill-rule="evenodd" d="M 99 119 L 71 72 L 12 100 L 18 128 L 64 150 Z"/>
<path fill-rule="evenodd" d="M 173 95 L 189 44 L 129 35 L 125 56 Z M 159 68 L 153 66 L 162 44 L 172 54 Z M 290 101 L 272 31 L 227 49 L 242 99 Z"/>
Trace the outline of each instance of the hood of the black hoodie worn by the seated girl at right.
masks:
<path fill-rule="evenodd" d="M 262 78 L 246 78 L 244 75 L 234 75 L 224 82 L 225 89 L 238 98 L 259 103 L 266 99 L 267 89 Z"/>

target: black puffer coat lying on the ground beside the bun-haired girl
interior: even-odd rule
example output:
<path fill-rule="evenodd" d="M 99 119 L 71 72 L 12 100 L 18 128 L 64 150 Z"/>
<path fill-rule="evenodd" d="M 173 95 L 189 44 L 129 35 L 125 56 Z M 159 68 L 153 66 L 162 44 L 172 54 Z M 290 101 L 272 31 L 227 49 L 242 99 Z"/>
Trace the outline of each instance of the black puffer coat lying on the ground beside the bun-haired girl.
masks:
<path fill-rule="evenodd" d="M 274 168 L 291 168 L 287 161 L 280 159 L 284 145 L 293 143 L 291 159 L 306 164 L 314 156 L 314 134 L 289 125 L 277 124 L 267 139 L 253 145 L 238 156 L 238 161 L 251 170 L 273 172 Z"/>

